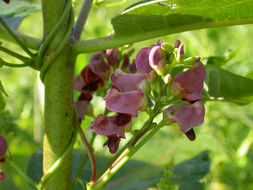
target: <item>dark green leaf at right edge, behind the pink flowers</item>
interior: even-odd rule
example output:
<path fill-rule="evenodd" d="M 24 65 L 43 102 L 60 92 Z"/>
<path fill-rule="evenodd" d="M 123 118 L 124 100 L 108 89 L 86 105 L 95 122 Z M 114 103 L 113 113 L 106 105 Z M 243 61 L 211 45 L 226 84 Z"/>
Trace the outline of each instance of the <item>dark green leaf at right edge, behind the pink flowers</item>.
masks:
<path fill-rule="evenodd" d="M 214 65 L 206 66 L 204 96 L 207 100 L 224 100 L 247 104 L 253 100 L 253 80 L 235 75 Z"/>

